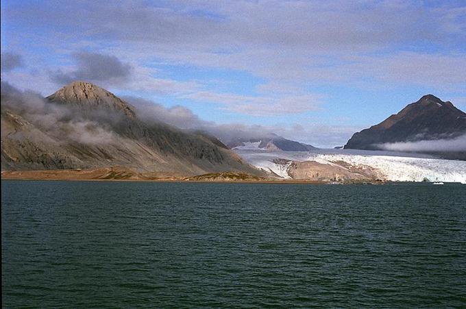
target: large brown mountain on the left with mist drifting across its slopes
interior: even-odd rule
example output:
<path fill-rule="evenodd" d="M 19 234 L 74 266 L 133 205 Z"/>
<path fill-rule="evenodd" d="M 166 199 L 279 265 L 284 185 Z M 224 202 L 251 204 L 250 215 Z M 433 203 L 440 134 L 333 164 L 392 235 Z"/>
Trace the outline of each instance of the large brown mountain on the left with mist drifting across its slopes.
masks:
<path fill-rule="evenodd" d="M 47 98 L 2 83 L 1 169 L 96 169 L 260 175 L 219 140 L 142 121 L 111 92 L 73 82 Z"/>

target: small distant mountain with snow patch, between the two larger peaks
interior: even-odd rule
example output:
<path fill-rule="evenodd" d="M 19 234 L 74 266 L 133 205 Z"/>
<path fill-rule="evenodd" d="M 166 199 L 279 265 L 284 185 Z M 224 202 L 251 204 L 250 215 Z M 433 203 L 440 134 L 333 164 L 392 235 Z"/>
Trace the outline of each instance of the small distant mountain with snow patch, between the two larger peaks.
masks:
<path fill-rule="evenodd" d="M 267 149 L 282 151 L 309 151 L 317 149 L 311 145 L 288 140 L 276 134 L 267 134 L 255 138 L 234 138 L 228 144 L 230 149 Z"/>

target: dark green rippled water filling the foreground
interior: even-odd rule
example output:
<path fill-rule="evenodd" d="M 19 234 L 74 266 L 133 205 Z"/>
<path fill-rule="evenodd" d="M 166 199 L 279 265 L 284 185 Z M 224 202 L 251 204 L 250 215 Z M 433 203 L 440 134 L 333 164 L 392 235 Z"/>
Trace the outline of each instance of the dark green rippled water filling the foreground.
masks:
<path fill-rule="evenodd" d="M 466 306 L 466 186 L 1 184 L 2 303 Z"/>

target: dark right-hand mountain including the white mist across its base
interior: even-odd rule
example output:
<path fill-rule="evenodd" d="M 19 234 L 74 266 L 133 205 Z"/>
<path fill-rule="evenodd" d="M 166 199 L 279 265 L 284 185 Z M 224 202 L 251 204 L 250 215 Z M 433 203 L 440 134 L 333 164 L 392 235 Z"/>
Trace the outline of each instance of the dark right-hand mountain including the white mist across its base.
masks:
<path fill-rule="evenodd" d="M 425 95 L 378 125 L 355 133 L 345 149 L 419 151 L 466 158 L 465 134 L 465 112 L 450 101 Z"/>

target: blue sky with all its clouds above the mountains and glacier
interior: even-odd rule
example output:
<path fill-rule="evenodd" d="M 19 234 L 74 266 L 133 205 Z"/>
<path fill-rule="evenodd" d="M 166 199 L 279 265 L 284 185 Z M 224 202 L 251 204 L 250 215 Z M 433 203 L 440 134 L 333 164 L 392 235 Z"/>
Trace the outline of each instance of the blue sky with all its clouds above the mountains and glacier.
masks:
<path fill-rule="evenodd" d="M 466 1 L 2 0 L 1 79 L 334 147 L 429 93 L 466 110 Z"/>

